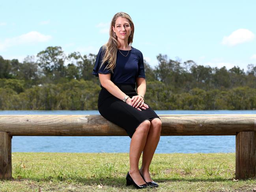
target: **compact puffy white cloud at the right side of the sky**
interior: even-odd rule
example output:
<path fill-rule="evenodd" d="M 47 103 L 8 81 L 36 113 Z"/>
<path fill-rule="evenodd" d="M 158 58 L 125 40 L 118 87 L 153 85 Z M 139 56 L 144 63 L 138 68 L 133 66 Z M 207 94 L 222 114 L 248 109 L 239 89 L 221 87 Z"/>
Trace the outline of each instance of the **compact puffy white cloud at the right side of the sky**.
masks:
<path fill-rule="evenodd" d="M 255 35 L 248 29 L 238 29 L 232 32 L 232 34 L 230 34 L 228 37 L 226 36 L 223 37 L 222 44 L 228 45 L 228 46 L 234 46 L 240 43 L 252 41 L 254 37 Z"/>

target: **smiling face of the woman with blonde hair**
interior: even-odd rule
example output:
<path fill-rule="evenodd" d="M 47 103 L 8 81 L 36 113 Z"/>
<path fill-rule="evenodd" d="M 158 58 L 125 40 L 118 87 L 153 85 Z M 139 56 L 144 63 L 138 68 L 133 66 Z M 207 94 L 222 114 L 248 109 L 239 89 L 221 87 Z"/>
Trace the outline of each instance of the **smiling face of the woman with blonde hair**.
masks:
<path fill-rule="evenodd" d="M 115 26 L 112 26 L 112 29 L 119 39 L 128 39 L 131 34 L 131 25 L 129 24 L 128 19 L 124 17 L 118 17 Z"/>

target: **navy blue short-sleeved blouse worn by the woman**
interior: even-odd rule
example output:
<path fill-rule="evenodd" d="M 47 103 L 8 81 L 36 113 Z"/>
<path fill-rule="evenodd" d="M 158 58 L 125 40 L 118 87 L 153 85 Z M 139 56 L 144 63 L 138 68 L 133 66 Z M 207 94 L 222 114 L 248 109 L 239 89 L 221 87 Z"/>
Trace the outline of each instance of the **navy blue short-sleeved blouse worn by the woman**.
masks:
<path fill-rule="evenodd" d="M 113 73 L 111 73 L 109 69 L 105 69 L 107 62 L 105 62 L 99 69 L 103 58 L 103 47 L 101 47 L 99 49 L 92 74 L 99 76 L 99 73 L 111 73 L 110 80 L 114 83 L 135 84 L 137 77 L 146 78 L 142 52 L 134 47 L 132 47 L 126 57 L 120 52 L 123 55 L 127 55 L 128 50 L 117 51 L 116 67 L 113 69 Z"/>

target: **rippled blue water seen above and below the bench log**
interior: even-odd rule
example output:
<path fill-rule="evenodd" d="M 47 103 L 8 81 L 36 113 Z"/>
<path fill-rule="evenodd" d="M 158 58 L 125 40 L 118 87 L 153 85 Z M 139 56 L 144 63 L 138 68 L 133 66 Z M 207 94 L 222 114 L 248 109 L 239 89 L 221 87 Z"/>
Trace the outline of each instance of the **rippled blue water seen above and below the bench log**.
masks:
<path fill-rule="evenodd" d="M 256 110 L 156 110 L 157 114 L 256 114 Z M 15 114 L 90 114 L 98 111 L 0 111 Z M 13 136 L 12 152 L 128 153 L 129 136 Z M 162 136 L 155 153 L 233 153 L 235 136 Z"/>

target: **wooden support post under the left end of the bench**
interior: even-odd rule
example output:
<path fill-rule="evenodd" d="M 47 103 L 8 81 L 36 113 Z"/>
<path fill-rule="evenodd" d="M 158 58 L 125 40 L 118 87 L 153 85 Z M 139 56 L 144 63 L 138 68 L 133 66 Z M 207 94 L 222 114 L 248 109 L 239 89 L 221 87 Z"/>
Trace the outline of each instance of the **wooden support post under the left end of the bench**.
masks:
<path fill-rule="evenodd" d="M 11 179 L 11 136 L 0 132 L 0 179 Z"/>

